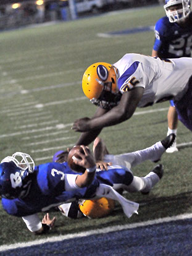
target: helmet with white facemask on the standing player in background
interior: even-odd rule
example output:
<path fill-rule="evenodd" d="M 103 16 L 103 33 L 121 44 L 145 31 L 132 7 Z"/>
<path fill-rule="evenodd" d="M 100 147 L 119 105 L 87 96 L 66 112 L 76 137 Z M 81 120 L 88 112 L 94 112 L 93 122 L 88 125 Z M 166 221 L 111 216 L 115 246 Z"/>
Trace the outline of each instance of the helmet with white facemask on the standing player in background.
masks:
<path fill-rule="evenodd" d="M 175 9 L 173 9 L 175 7 Z M 170 22 L 184 20 L 191 12 L 190 0 L 165 0 L 164 9 Z"/>

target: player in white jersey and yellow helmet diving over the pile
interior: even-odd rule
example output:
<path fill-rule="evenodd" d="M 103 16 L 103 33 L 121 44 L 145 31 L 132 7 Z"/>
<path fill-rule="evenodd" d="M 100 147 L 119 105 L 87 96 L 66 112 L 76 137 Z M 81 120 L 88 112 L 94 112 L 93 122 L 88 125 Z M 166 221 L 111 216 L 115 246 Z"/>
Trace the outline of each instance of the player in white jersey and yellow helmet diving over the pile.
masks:
<path fill-rule="evenodd" d="M 98 109 L 92 118 L 73 123 L 73 130 L 83 132 L 76 145 L 88 145 L 102 128 L 127 121 L 137 107 L 166 100 L 174 101 L 178 118 L 192 130 L 191 58 L 162 61 L 142 54 L 125 54 L 113 65 L 97 62 L 88 67 L 82 87 Z"/>

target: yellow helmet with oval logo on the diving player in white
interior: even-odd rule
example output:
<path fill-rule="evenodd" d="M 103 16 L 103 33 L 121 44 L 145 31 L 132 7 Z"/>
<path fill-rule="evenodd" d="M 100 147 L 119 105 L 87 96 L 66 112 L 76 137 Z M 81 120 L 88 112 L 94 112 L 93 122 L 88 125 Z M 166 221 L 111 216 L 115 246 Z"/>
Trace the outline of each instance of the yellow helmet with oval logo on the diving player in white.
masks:
<path fill-rule="evenodd" d="M 83 92 L 94 105 L 111 109 L 120 100 L 117 79 L 116 67 L 106 62 L 96 62 L 83 74 Z"/>

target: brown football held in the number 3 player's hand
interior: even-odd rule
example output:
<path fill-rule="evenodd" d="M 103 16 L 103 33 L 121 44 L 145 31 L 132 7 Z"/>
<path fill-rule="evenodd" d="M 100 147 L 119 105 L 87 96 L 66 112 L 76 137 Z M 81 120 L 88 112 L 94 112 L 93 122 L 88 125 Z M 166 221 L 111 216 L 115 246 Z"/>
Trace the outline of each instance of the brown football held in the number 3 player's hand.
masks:
<path fill-rule="evenodd" d="M 85 168 L 83 166 L 80 166 L 78 164 L 75 164 L 73 160 L 75 160 L 75 158 L 77 159 L 81 159 L 78 154 L 76 153 L 77 151 L 80 151 L 80 153 L 84 154 L 83 148 L 81 148 L 80 146 L 74 146 L 70 151 L 69 151 L 69 155 L 67 158 L 67 163 L 70 167 L 70 169 L 72 169 L 73 171 L 76 171 L 77 173 L 84 173 L 85 172 Z"/>

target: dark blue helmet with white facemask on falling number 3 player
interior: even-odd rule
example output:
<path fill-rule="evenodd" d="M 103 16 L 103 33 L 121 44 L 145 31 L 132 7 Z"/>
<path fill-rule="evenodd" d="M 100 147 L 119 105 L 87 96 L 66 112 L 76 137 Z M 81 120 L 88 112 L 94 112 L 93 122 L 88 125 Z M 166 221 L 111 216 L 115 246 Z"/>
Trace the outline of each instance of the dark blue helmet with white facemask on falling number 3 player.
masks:
<path fill-rule="evenodd" d="M 7 156 L 0 164 L 0 195 L 7 199 L 25 197 L 31 186 L 28 177 L 33 173 L 35 163 L 30 155 L 16 152 Z"/>

